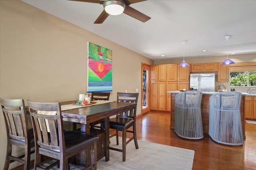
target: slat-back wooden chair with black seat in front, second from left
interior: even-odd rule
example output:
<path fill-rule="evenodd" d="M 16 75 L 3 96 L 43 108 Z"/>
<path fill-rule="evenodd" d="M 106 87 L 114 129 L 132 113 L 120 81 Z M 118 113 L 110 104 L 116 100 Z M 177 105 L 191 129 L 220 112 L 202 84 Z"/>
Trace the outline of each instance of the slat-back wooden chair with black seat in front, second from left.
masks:
<path fill-rule="evenodd" d="M 96 140 L 98 137 L 86 133 L 63 130 L 60 103 L 28 102 L 35 137 L 34 169 L 49 169 L 59 164 L 60 170 L 70 165 L 80 169 L 96 169 Z M 91 157 L 87 167 L 68 161 L 70 157 L 84 150 L 90 150 Z M 43 167 L 42 155 L 58 160 Z M 87 165 L 86 163 L 86 165 Z"/>

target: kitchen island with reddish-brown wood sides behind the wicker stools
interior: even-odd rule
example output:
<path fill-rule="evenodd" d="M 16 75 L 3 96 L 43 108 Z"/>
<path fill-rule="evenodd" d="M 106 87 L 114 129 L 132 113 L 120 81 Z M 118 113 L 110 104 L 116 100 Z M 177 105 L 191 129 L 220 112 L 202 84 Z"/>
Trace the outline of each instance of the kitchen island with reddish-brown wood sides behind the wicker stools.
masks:
<path fill-rule="evenodd" d="M 167 93 L 171 94 L 171 119 L 170 119 L 170 129 L 174 129 L 174 98 L 177 94 L 181 93 L 180 91 L 169 91 Z M 202 103 L 201 103 L 201 114 L 202 114 L 202 123 L 203 123 L 203 131 L 204 133 L 208 134 L 209 131 L 209 98 L 216 92 L 203 92 L 202 96 Z M 245 95 L 242 94 L 242 100 L 241 100 L 241 107 L 240 107 L 240 113 L 241 113 L 241 123 L 242 123 L 242 131 L 243 136 L 245 139 L 245 111 L 244 111 L 244 104 L 245 104 Z"/>

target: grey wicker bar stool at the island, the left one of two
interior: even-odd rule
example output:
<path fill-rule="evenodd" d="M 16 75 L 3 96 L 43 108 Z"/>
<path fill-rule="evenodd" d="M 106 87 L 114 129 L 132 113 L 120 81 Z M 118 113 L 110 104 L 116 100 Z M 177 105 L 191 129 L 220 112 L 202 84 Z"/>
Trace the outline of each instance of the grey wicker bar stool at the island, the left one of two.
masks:
<path fill-rule="evenodd" d="M 186 139 L 204 137 L 201 115 L 202 92 L 186 91 L 175 96 L 174 131 Z"/>

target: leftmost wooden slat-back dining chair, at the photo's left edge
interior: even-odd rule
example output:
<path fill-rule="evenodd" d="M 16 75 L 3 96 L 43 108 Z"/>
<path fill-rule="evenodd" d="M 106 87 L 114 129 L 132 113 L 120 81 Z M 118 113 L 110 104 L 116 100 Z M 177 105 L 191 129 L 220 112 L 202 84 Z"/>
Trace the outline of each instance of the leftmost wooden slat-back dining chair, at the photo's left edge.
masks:
<path fill-rule="evenodd" d="M 4 162 L 4 170 L 8 170 L 10 163 L 20 162 L 24 164 L 24 170 L 30 167 L 30 155 L 34 153 L 34 135 L 33 129 L 28 127 L 28 115 L 23 99 L 5 100 L 0 98 L 2 112 L 7 133 L 7 149 Z M 24 149 L 24 154 L 14 156 L 12 146 L 18 146 Z"/>

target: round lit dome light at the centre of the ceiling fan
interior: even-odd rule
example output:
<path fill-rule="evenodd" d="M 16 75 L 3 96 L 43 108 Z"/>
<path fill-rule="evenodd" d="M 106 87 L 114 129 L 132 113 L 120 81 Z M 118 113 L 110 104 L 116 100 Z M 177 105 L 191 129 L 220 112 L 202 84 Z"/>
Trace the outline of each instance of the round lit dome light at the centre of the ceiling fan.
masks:
<path fill-rule="evenodd" d="M 125 3 L 122 0 L 106 0 L 103 2 L 103 7 L 108 14 L 116 16 L 124 12 Z"/>

